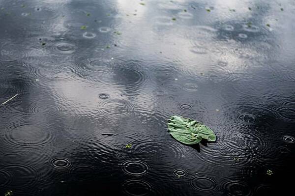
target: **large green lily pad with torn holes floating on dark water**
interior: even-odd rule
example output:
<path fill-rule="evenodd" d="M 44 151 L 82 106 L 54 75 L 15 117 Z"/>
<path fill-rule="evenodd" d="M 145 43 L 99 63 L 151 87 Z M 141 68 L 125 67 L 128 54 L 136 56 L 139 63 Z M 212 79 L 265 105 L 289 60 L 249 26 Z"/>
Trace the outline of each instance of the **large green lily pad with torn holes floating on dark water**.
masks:
<path fill-rule="evenodd" d="M 197 144 L 203 139 L 216 141 L 216 135 L 209 127 L 181 116 L 171 116 L 168 120 L 168 131 L 177 141 L 188 145 Z"/>

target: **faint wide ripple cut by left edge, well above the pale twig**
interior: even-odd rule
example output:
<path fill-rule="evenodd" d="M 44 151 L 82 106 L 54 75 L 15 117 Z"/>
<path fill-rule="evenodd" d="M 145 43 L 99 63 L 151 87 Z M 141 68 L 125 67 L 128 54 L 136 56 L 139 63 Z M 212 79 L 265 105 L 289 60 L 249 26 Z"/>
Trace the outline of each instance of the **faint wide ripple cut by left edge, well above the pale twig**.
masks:
<path fill-rule="evenodd" d="M 28 56 L 24 45 L 0 41 L 0 61 L 13 61 Z"/>

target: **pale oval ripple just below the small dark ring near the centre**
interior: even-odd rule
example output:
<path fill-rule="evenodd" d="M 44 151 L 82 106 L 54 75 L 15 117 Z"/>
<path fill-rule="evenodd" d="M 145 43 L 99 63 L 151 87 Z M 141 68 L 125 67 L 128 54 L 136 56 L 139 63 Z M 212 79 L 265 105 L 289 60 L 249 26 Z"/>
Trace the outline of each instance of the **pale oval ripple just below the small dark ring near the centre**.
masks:
<path fill-rule="evenodd" d="M 129 101 L 120 99 L 108 100 L 98 104 L 98 112 L 110 117 L 127 116 L 135 110 L 136 108 Z"/>

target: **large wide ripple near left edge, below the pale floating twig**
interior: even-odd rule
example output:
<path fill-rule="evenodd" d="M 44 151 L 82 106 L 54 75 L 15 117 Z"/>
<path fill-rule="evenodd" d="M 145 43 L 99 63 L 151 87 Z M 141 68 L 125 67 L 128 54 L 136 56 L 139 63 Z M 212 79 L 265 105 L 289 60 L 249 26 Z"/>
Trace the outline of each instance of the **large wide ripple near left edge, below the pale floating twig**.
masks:
<path fill-rule="evenodd" d="M 5 142 L 22 148 L 42 147 L 54 139 L 50 127 L 38 122 L 14 122 L 5 128 L 3 134 Z"/>

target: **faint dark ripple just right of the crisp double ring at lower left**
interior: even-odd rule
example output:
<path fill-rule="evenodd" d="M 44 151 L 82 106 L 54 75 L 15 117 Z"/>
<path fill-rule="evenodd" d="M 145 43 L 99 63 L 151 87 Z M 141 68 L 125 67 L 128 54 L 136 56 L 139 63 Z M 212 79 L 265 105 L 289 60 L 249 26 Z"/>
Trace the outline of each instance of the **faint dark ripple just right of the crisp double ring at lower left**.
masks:
<path fill-rule="evenodd" d="M 78 180 L 91 180 L 97 174 L 95 168 L 90 165 L 78 165 L 70 169 L 71 175 Z"/>

